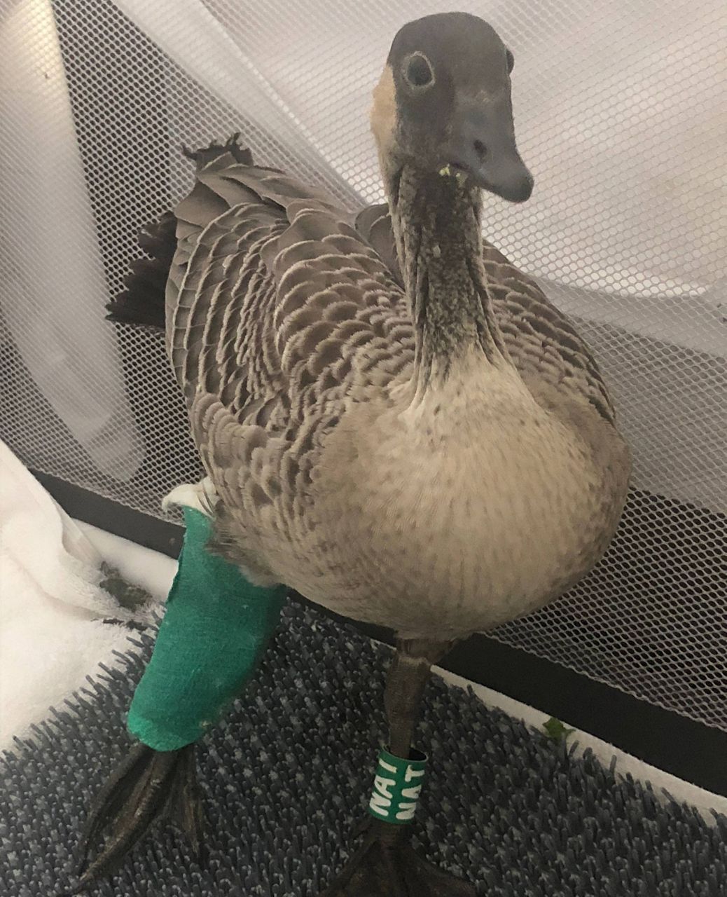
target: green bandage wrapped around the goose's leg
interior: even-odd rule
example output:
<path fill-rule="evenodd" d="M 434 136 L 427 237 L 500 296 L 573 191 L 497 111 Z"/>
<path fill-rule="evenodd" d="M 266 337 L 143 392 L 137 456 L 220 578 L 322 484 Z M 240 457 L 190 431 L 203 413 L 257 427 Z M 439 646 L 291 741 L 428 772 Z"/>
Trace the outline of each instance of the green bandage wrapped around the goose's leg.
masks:
<path fill-rule="evenodd" d="M 156 751 L 196 741 L 238 697 L 280 619 L 287 588 L 258 588 L 207 551 L 211 521 L 185 508 L 186 533 L 129 731 Z"/>

